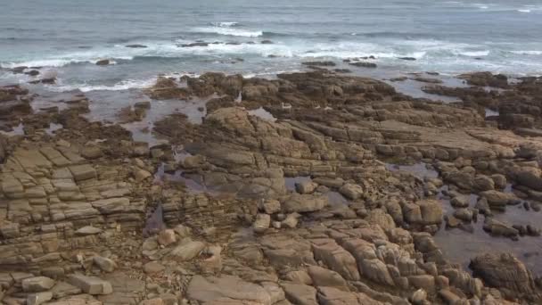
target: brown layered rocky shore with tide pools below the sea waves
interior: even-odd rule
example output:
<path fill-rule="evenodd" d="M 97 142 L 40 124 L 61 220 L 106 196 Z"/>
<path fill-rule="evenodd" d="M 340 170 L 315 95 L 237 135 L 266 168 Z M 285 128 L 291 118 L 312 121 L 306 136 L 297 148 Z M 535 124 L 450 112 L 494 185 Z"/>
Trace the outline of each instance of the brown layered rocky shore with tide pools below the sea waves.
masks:
<path fill-rule="evenodd" d="M 0 302 L 540 304 L 542 78 L 460 78 L 160 77 L 117 122 L 0 87 Z"/>

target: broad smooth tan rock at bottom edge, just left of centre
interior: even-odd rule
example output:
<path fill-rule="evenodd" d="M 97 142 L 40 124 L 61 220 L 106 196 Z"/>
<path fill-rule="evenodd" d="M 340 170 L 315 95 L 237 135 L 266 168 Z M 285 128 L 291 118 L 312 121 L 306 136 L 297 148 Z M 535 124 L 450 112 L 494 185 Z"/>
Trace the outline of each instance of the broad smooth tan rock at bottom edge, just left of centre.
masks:
<path fill-rule="evenodd" d="M 259 284 L 243 281 L 237 276 L 193 276 L 186 297 L 205 304 L 262 304 L 271 305 L 271 296 Z"/>

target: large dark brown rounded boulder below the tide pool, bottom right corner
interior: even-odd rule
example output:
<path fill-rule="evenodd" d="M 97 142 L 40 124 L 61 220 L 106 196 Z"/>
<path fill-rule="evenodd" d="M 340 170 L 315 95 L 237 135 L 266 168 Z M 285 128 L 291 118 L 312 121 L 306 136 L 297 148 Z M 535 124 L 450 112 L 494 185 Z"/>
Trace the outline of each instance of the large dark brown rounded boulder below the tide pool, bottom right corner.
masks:
<path fill-rule="evenodd" d="M 533 293 L 535 290 L 530 271 L 512 254 L 486 253 L 471 260 L 469 267 L 489 286 L 516 293 Z"/>

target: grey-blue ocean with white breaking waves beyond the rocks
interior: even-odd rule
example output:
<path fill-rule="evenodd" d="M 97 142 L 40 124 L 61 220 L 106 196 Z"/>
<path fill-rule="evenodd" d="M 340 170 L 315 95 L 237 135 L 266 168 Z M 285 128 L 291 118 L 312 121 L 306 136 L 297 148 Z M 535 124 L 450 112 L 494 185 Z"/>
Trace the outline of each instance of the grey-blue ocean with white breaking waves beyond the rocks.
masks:
<path fill-rule="evenodd" d="M 0 84 L 55 76 L 47 90 L 126 90 L 151 86 L 160 73 L 272 77 L 315 60 L 377 78 L 539 75 L 540 29 L 539 0 L 3 1 Z M 378 67 L 342 62 L 365 56 Z M 103 59 L 112 64 L 95 64 Z M 41 76 L 9 70 L 18 66 Z"/>

